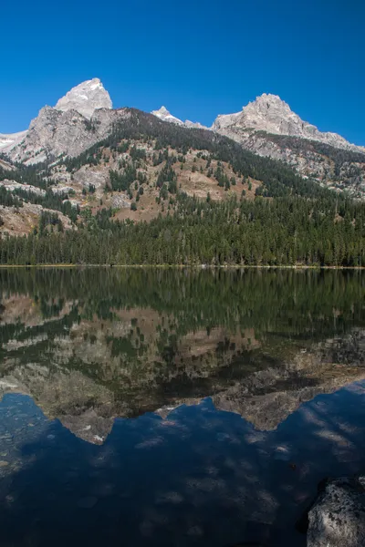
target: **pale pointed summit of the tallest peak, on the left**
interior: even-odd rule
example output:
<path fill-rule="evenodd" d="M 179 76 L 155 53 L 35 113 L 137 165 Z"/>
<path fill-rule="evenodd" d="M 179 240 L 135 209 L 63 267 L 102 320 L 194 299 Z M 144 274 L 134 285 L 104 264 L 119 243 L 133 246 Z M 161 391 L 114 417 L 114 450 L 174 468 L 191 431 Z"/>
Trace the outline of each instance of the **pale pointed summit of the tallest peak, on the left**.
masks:
<path fill-rule="evenodd" d="M 70 89 L 65 97 L 57 101 L 55 108 L 63 112 L 77 110 L 82 116 L 90 119 L 97 108 L 112 108 L 112 103 L 99 77 L 94 77 Z"/>

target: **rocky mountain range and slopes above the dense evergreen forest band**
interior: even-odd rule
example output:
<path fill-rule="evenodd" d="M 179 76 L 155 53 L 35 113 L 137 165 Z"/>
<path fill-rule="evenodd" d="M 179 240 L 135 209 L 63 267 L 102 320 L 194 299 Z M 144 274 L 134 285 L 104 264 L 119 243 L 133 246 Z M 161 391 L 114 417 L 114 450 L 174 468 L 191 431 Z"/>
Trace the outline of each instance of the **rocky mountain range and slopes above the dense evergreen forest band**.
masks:
<path fill-rule="evenodd" d="M 298 122 L 276 96 L 264 95 L 254 103 L 248 116 L 245 111 L 224 115 L 221 127 L 210 130 L 183 122 L 164 107 L 151 114 L 109 108 L 109 94 L 99 79 L 83 82 L 57 101 L 62 109 L 41 108 L 26 134 L 20 134 L 22 140 L 13 141 L 1 156 L 5 210 L 0 232 L 29 232 L 38 220 L 42 230 L 45 222 L 57 226 L 49 210 L 66 214 L 76 227 L 90 207 L 93 214 L 108 207 L 116 211 L 116 220 L 150 222 L 160 212 L 174 211 L 178 194 L 203 201 L 255 201 L 256 196 L 302 193 L 307 180 L 305 194 L 311 199 L 322 195 L 319 187 L 365 197 L 365 154 L 303 136 L 267 133 L 262 128 L 295 132 L 297 123 L 302 134 L 314 129 Z M 260 116 L 257 108 L 263 111 Z M 248 127 L 252 118 L 255 129 Z M 19 200 L 32 205 L 22 208 L 27 223 L 11 209 L 19 207 Z"/>

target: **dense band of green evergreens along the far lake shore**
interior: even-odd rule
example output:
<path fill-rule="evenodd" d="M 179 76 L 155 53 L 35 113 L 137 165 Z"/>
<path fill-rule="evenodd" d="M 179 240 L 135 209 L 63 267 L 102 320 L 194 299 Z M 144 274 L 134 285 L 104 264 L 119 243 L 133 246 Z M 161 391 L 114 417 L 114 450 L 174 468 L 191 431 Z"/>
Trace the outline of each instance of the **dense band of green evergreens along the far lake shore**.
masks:
<path fill-rule="evenodd" d="M 77 231 L 5 238 L 0 263 L 365 266 L 360 202 L 214 202 L 178 193 L 174 212 L 151 222 L 115 222 L 112 215 L 84 215 Z"/>

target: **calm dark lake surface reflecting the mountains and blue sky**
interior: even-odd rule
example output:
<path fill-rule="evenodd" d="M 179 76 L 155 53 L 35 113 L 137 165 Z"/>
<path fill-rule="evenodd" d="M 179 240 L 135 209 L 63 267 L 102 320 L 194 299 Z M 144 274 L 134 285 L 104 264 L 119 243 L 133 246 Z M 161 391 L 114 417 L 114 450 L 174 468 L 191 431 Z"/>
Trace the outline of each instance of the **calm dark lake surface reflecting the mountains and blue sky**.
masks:
<path fill-rule="evenodd" d="M 0 270 L 0 544 L 304 545 L 365 471 L 360 272 Z"/>

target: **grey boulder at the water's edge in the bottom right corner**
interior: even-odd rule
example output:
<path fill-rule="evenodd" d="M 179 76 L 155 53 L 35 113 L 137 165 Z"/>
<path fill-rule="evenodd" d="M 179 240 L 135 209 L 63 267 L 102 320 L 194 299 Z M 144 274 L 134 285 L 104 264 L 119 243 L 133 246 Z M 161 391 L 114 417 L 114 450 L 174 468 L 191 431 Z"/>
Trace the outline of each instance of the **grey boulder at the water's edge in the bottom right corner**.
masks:
<path fill-rule="evenodd" d="M 308 512 L 308 547 L 365 545 L 365 477 L 329 480 Z"/>

